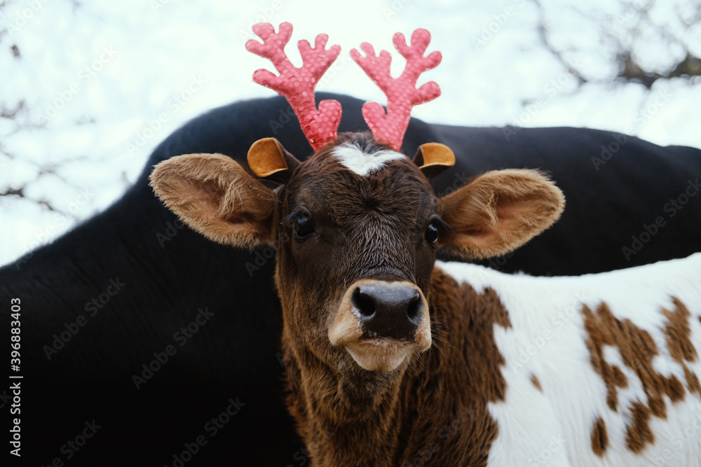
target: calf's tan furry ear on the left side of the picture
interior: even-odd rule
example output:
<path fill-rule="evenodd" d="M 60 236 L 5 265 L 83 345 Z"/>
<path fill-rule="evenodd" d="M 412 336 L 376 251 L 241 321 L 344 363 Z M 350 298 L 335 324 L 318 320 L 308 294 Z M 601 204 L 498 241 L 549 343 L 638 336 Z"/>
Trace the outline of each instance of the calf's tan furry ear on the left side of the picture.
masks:
<path fill-rule="evenodd" d="M 277 195 L 226 155 L 179 155 L 158 163 L 150 178 L 168 209 L 208 239 L 275 246 Z"/>

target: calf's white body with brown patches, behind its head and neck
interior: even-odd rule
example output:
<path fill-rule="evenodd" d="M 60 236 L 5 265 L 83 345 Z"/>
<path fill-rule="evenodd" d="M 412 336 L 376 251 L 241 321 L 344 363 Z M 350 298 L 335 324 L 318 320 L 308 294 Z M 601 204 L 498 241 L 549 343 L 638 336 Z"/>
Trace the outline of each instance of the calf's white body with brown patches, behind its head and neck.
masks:
<path fill-rule="evenodd" d="M 451 390 L 421 394 L 427 411 L 447 406 L 458 420 L 459 435 L 445 442 L 416 433 L 437 443 L 430 465 L 453 465 L 460 454 L 441 451 L 475 436 L 471 424 L 497 430 L 491 446 L 481 446 L 488 461 L 469 465 L 698 465 L 701 254 L 583 277 L 513 276 L 464 263 L 439 263 L 434 274 L 432 311 L 444 333 L 426 367 L 438 355 L 468 369 L 444 377 Z M 496 354 L 480 350 L 490 344 Z M 492 384 L 503 389 L 496 398 L 486 396 Z M 461 387 L 467 396 L 444 400 Z"/>

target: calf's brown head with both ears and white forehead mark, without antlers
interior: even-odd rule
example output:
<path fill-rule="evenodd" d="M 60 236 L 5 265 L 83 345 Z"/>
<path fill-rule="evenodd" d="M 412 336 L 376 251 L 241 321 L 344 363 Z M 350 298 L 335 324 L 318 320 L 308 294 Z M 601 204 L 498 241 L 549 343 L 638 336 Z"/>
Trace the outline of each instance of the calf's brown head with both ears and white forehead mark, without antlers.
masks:
<path fill-rule="evenodd" d="M 299 162 L 266 139 L 249 162 L 284 181 L 275 190 L 233 160 L 203 154 L 161 162 L 151 184 L 215 242 L 275 246 L 293 352 L 334 373 L 386 373 L 430 347 L 437 248 L 466 259 L 507 253 L 562 212 L 562 193 L 532 170 L 488 172 L 437 199 L 428 176 L 452 160 L 440 144 L 421 146 L 412 161 L 369 133 L 351 133 Z"/>

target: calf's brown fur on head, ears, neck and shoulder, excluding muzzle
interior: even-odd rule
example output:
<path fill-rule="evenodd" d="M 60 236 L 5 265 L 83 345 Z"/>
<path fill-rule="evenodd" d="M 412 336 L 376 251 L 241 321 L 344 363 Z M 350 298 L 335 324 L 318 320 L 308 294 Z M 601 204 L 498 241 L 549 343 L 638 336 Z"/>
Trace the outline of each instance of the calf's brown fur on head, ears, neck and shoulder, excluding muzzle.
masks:
<path fill-rule="evenodd" d="M 369 155 L 388 149 L 369 133 L 340 134 L 275 193 L 220 155 L 161 162 L 152 183 L 168 207 L 215 241 L 278 247 L 287 405 L 313 466 L 484 466 L 498 433 L 487 404 L 506 391 L 494 326 L 508 328 L 510 320 L 491 289 L 477 293 L 434 270 L 426 232 L 437 225 L 439 246 L 465 258 L 505 253 L 557 219 L 562 193 L 536 171 L 507 170 L 439 201 L 408 158 L 369 176 L 346 169 L 332 154 L 344 142 Z M 278 158 L 276 150 L 254 151 L 268 153 Z M 297 237 L 303 218 L 313 229 Z M 430 304 L 428 351 L 380 372 L 363 370 L 331 344 L 329 324 L 361 279 L 421 289 Z"/>

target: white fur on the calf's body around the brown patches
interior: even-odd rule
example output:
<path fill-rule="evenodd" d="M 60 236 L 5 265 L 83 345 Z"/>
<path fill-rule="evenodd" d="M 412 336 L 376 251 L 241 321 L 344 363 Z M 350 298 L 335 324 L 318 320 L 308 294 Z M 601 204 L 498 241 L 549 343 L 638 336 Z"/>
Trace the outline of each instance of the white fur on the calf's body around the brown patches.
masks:
<path fill-rule="evenodd" d="M 674 309 L 670 297 L 688 307 L 690 340 L 701 353 L 701 253 L 628 270 L 580 277 L 509 275 L 477 265 L 442 263 L 437 267 L 472 285 L 477 292 L 492 288 L 508 310 L 511 328 L 494 326 L 501 367 L 507 384 L 505 400 L 489 404 L 499 432 L 489 453 L 492 466 L 700 466 L 701 398 L 689 393 L 679 363 L 669 355 L 662 308 Z M 662 375 L 684 382 L 685 398 L 672 403 L 665 396 L 666 418 L 651 416 L 655 442 L 635 454 L 627 448 L 631 404 L 647 403 L 638 375 L 622 362 L 616 347 L 604 347 L 604 359 L 618 366 L 627 387 L 618 388 L 618 407 L 606 404 L 604 381 L 592 368 L 581 309 L 592 311 L 606 302 L 618 319 L 630 319 L 658 344 L 653 365 Z M 686 361 L 701 376 L 701 359 Z M 543 391 L 531 383 L 538 378 Z M 592 426 L 606 424 L 608 448 L 592 451 Z"/>

